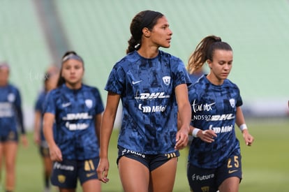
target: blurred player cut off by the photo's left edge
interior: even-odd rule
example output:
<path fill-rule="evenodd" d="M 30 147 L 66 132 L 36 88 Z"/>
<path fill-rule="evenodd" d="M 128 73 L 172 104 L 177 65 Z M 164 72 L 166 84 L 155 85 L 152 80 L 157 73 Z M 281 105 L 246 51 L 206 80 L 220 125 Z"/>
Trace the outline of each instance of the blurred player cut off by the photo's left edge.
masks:
<path fill-rule="evenodd" d="M 24 147 L 28 142 L 23 124 L 20 91 L 8 82 L 10 68 L 5 62 L 0 63 L 0 174 L 2 162 L 6 170 L 6 192 L 15 189 L 16 156 L 18 146 L 18 127 Z"/>

